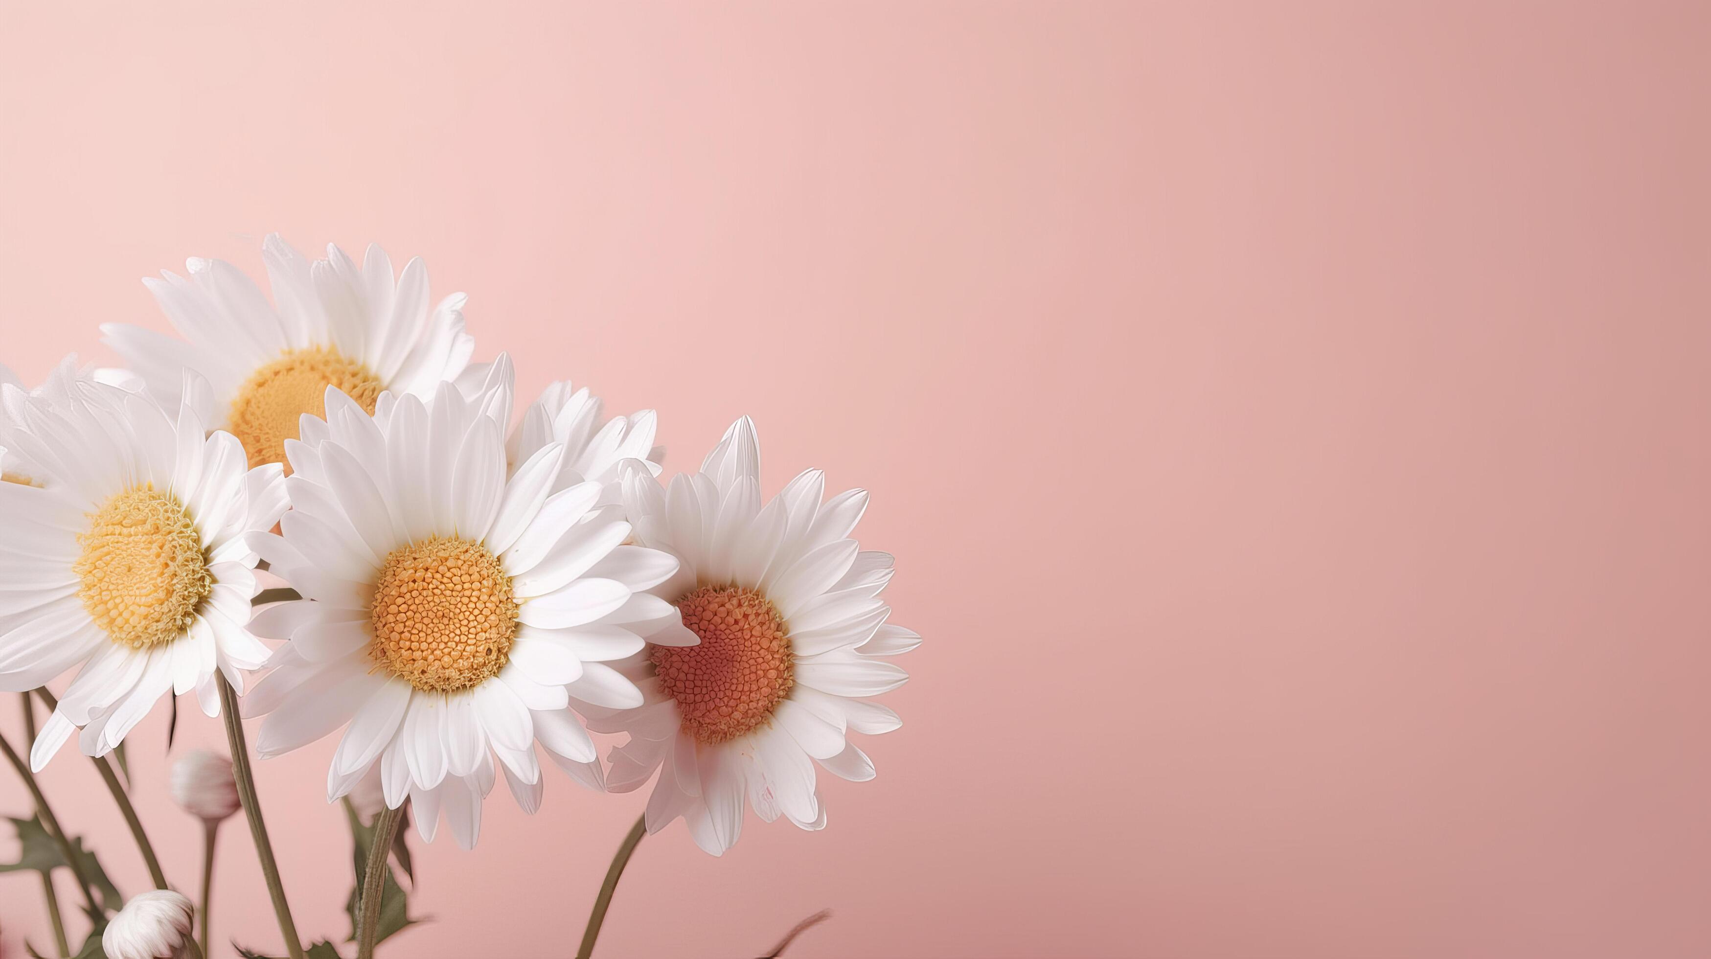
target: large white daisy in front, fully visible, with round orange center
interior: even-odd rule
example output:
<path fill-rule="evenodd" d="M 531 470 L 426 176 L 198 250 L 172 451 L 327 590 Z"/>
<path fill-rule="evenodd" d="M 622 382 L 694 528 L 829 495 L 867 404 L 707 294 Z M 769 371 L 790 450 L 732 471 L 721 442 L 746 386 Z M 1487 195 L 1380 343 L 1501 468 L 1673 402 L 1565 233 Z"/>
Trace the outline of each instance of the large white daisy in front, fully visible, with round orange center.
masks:
<path fill-rule="evenodd" d="M 286 639 L 245 700 L 267 714 L 257 752 L 279 755 L 340 726 L 327 796 L 378 767 L 383 800 L 409 798 L 433 839 L 441 812 L 474 846 L 481 803 L 503 772 L 534 812 L 536 743 L 599 784 L 595 748 L 570 695 L 604 707 L 642 694 L 604 663 L 643 647 L 671 608 L 642 593 L 678 562 L 623 545 L 623 507 L 601 485 L 553 491 L 566 449 L 549 442 L 508 474 L 510 363 L 467 399 L 383 394 L 370 416 L 335 389 L 325 421 L 286 444 L 293 510 L 257 548 L 305 596 L 257 616 Z M 498 764 L 494 764 L 498 759 Z"/>

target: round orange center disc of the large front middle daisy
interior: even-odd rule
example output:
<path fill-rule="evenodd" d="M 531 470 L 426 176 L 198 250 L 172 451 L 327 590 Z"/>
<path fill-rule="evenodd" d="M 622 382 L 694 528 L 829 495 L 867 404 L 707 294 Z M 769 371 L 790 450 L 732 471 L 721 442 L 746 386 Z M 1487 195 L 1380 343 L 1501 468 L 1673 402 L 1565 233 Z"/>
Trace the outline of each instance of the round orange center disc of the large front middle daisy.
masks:
<path fill-rule="evenodd" d="M 500 675 L 517 635 L 512 577 L 481 543 L 424 539 L 387 553 L 370 610 L 368 656 L 426 692 Z"/>

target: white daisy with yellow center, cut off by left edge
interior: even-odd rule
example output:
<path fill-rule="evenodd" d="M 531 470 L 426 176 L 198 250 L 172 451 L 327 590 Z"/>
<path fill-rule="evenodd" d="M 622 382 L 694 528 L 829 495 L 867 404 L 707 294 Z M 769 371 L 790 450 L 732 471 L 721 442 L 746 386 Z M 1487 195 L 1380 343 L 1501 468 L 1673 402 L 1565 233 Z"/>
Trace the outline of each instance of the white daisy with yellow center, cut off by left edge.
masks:
<path fill-rule="evenodd" d="M 188 406 L 79 380 L 67 397 L 7 392 L 10 452 L 29 483 L 0 483 L 0 688 L 29 690 L 84 663 L 31 750 L 41 769 L 75 728 L 104 755 L 168 692 L 219 714 L 214 671 L 269 654 L 245 625 L 257 555 L 245 536 L 286 509 L 281 469 L 250 469 L 231 433 Z M 205 387 L 190 382 L 185 394 Z"/>

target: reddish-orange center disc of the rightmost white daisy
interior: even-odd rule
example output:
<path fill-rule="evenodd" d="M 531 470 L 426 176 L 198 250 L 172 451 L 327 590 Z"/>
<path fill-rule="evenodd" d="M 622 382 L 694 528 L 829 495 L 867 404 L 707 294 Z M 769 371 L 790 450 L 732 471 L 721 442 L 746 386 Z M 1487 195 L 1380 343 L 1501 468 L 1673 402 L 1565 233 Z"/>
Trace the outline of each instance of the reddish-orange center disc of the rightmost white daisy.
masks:
<path fill-rule="evenodd" d="M 659 682 L 678 700 L 683 731 L 717 745 L 772 718 L 796 685 L 790 635 L 772 603 L 753 589 L 702 587 L 678 599 L 700 646 L 654 646 Z"/>

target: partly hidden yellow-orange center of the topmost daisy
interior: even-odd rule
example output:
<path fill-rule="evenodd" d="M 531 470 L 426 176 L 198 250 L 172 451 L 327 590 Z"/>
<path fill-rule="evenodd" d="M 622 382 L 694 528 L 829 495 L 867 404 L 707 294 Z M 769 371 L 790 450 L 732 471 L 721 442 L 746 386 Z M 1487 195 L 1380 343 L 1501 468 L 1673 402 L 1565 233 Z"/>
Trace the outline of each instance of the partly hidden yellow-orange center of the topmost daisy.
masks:
<path fill-rule="evenodd" d="M 305 413 L 327 416 L 327 387 L 339 387 L 366 413 L 385 385 L 368 366 L 330 348 L 289 349 L 258 368 L 231 401 L 229 430 L 250 454 L 250 466 L 284 462 L 286 440 L 298 438 Z"/>

